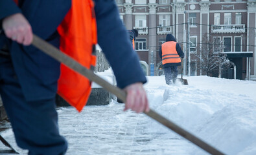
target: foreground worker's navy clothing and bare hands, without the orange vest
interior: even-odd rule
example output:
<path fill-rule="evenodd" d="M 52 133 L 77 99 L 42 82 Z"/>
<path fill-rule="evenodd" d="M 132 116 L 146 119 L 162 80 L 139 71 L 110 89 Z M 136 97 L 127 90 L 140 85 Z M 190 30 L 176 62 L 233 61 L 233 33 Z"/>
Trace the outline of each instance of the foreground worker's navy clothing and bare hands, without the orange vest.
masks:
<path fill-rule="evenodd" d="M 93 1 L 87 1 L 83 3 L 93 6 Z M 148 112 L 143 88 L 146 78 L 115 1 L 94 2 L 92 17 L 97 19 L 98 43 L 113 68 L 118 87 L 127 92 L 124 110 Z M 30 44 L 34 33 L 58 48 L 57 28 L 70 9 L 71 0 L 0 1 L 0 94 L 17 145 L 29 154 L 65 154 L 67 150 L 55 109 L 60 63 Z"/>

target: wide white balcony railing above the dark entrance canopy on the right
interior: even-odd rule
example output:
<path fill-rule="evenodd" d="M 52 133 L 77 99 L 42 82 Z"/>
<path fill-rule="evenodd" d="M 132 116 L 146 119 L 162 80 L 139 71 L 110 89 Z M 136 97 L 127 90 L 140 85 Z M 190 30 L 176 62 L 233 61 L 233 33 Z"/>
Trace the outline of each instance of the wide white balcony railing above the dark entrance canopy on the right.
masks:
<path fill-rule="evenodd" d="M 244 33 L 246 25 L 212 25 L 211 32 L 213 33 Z"/>

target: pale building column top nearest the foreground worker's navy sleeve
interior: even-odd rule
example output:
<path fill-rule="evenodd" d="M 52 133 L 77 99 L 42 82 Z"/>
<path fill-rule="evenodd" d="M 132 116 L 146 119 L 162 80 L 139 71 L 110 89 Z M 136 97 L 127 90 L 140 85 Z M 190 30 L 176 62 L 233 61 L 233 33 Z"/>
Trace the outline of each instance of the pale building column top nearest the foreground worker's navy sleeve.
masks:
<path fill-rule="evenodd" d="M 125 26 L 126 26 L 126 29 L 128 30 L 132 30 L 133 27 L 132 27 L 132 23 L 133 23 L 133 20 L 132 20 L 132 7 L 133 7 L 133 3 L 132 1 L 127 1 L 126 0 L 126 3 L 124 3 L 124 8 L 125 8 Z"/>

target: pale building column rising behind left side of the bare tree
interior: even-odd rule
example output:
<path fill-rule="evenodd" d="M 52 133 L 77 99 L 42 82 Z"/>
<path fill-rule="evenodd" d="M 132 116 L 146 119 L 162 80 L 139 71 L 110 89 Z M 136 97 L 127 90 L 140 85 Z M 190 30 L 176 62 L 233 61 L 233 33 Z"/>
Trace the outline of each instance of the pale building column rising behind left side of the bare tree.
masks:
<path fill-rule="evenodd" d="M 199 3 L 200 5 L 200 48 L 202 47 L 202 37 L 204 34 L 208 34 L 208 39 L 209 39 L 209 7 L 211 5 L 211 2 L 208 1 L 201 1 Z M 204 19 L 204 20 L 203 20 Z M 200 58 L 201 58 L 201 53 L 200 53 Z M 201 68 L 201 61 L 200 61 L 200 68 Z M 199 70 L 199 75 L 202 76 L 202 69 Z"/>

